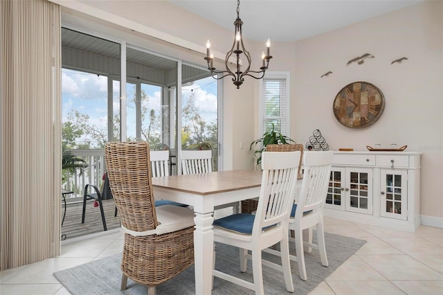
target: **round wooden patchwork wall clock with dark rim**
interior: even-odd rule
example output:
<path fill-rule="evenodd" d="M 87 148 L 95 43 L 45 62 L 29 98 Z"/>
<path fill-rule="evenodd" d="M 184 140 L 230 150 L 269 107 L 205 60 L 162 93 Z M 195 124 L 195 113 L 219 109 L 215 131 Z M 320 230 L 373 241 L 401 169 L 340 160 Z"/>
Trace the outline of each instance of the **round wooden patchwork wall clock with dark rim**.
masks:
<path fill-rule="evenodd" d="M 338 91 L 334 100 L 334 116 L 350 128 L 368 127 L 381 117 L 385 98 L 380 89 L 368 82 L 352 82 Z"/>

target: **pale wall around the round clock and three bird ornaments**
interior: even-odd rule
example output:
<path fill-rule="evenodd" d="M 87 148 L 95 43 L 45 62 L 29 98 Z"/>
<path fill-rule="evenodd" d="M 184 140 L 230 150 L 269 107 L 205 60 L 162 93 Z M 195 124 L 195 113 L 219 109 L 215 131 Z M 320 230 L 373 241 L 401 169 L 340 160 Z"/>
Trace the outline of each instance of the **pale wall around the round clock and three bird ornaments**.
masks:
<path fill-rule="evenodd" d="M 346 66 L 371 53 L 364 64 Z M 421 214 L 443 217 L 443 3 L 410 6 L 296 42 L 291 136 L 306 143 L 320 129 L 332 150 L 381 143 L 422 152 Z M 390 64 L 408 57 L 402 64 Z M 323 73 L 332 71 L 327 78 Z M 354 81 L 375 84 L 386 99 L 381 118 L 365 129 L 336 121 L 332 102 Z"/>

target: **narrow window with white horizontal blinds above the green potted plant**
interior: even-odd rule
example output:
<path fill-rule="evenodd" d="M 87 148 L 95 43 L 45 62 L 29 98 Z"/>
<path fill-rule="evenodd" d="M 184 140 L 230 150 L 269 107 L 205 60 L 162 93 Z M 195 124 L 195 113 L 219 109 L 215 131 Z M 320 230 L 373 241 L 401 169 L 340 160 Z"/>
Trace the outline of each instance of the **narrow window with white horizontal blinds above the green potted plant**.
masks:
<path fill-rule="evenodd" d="M 262 101 L 263 131 L 269 132 L 272 123 L 275 125 L 275 131 L 286 133 L 286 80 L 285 79 L 266 79 L 262 83 L 264 100 Z"/>

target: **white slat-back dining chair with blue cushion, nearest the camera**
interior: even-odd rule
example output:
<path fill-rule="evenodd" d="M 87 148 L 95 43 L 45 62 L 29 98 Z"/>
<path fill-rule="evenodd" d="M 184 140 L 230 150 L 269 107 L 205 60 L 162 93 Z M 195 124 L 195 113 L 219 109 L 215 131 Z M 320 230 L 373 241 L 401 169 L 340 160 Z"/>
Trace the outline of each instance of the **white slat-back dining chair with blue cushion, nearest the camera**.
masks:
<path fill-rule="evenodd" d="M 289 261 L 288 226 L 296 194 L 299 159 L 300 152 L 263 152 L 262 186 L 255 215 L 238 213 L 213 223 L 215 242 L 239 248 L 240 271 L 245 272 L 247 258 L 252 259 L 253 283 L 215 268 L 213 276 L 252 289 L 255 294 L 264 294 L 262 265 L 266 265 L 282 271 L 287 291 L 294 291 Z M 279 242 L 282 264 L 262 260 L 262 250 Z"/>

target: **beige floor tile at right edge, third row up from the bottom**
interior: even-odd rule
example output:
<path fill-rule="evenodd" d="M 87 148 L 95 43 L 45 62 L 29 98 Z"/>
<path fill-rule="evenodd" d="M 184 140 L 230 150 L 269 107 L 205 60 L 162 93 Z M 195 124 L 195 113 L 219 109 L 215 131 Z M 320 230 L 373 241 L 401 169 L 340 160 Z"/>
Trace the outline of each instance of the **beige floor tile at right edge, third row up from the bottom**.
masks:
<path fill-rule="evenodd" d="M 393 247 L 403 251 L 408 255 L 432 255 L 443 254 L 443 247 L 437 246 L 431 242 L 424 240 L 423 238 L 381 238 L 384 242 L 392 245 Z"/>

